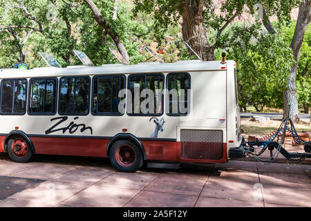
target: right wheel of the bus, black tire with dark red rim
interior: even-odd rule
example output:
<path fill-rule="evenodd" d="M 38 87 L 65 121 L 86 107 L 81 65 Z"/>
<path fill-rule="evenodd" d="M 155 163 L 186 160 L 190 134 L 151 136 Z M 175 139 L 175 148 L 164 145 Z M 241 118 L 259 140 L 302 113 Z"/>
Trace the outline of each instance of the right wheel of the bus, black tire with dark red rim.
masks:
<path fill-rule="evenodd" d="M 122 158 L 122 156 L 124 156 L 122 154 L 126 151 L 131 152 L 129 155 L 132 156 L 125 159 Z M 135 159 L 133 154 L 135 154 Z M 140 169 L 143 164 L 142 151 L 130 140 L 117 140 L 111 146 L 110 161 L 118 171 L 135 172 Z"/>

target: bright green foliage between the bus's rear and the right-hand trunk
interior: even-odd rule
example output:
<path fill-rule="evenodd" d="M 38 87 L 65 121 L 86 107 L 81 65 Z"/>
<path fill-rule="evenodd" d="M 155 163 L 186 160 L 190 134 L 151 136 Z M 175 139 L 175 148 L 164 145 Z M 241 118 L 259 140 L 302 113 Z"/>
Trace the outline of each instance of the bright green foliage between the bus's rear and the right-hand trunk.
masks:
<path fill-rule="evenodd" d="M 238 64 L 240 106 L 252 105 L 256 111 L 264 106 L 281 108 L 285 79 L 294 61 L 290 44 L 281 35 L 267 34 L 251 24 L 234 23 L 229 30 L 227 57 Z"/>

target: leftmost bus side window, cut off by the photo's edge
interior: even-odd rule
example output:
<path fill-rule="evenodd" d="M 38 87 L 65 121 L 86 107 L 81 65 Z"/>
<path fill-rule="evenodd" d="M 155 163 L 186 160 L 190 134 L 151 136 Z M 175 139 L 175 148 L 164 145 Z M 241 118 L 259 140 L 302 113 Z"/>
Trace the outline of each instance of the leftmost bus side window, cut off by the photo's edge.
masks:
<path fill-rule="evenodd" d="M 23 115 L 26 113 L 27 79 L 1 81 L 1 113 Z"/>

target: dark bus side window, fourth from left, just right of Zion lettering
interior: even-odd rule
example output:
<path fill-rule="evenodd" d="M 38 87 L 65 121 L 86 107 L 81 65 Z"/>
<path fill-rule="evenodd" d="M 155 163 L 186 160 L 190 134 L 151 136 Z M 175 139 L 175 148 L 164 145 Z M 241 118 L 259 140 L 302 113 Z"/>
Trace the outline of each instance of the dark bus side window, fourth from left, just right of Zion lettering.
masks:
<path fill-rule="evenodd" d="M 119 104 L 124 97 L 119 97 L 120 90 L 125 88 L 125 77 L 94 77 L 93 113 L 95 115 L 121 115 Z"/>

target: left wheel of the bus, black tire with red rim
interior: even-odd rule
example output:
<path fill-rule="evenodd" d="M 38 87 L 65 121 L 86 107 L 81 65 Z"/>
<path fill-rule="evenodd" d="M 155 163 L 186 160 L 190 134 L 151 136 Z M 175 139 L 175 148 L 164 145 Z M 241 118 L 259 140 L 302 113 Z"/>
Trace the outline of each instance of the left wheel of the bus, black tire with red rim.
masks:
<path fill-rule="evenodd" d="M 21 148 L 23 148 L 23 151 L 26 151 L 26 153 L 14 151 L 13 145 L 15 147 L 21 146 Z M 26 163 L 30 161 L 33 156 L 32 149 L 30 147 L 29 142 L 27 142 L 27 140 L 22 136 L 10 137 L 10 140 L 8 140 L 8 143 L 6 146 L 7 146 L 8 155 L 11 158 L 11 160 L 13 160 L 14 162 Z M 21 153 L 21 154 L 18 154 L 18 153 Z"/>

